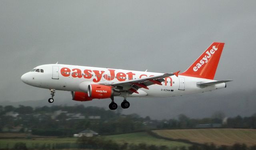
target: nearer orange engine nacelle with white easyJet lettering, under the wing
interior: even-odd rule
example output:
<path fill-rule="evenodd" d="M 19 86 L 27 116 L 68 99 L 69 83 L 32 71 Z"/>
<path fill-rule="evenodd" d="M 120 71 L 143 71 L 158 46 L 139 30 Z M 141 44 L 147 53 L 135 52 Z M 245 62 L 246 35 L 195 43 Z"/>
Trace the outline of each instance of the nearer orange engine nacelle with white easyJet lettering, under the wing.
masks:
<path fill-rule="evenodd" d="M 118 96 L 120 92 L 112 89 L 112 86 L 105 86 L 100 84 L 90 84 L 88 86 L 88 96 L 90 98 L 110 98 L 111 96 Z"/>

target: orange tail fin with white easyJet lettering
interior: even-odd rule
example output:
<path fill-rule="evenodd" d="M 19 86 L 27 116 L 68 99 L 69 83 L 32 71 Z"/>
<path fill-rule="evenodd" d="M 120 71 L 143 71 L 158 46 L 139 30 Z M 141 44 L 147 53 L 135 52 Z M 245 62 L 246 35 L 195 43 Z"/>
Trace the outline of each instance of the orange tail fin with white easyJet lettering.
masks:
<path fill-rule="evenodd" d="M 213 80 L 223 47 L 224 43 L 213 42 L 185 72 L 179 75 Z"/>

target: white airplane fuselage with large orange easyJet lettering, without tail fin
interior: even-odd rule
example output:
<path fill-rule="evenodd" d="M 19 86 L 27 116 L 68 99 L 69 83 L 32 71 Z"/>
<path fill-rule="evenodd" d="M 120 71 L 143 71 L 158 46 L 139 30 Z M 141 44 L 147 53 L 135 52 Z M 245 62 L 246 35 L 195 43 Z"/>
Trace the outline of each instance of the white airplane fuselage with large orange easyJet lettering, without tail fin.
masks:
<path fill-rule="evenodd" d="M 65 69 L 63 69 L 65 68 Z M 69 70 L 70 72 L 69 72 Z M 87 92 L 85 89 L 88 84 L 104 84 L 121 82 L 126 80 L 138 79 L 147 76 L 155 76 L 160 73 L 141 72 L 133 70 L 96 68 L 87 66 L 73 66 L 64 64 L 46 64 L 37 66 L 43 72 L 27 72 L 21 79 L 26 84 L 38 88 L 56 89 L 64 91 Z M 214 82 L 205 78 L 195 78 L 190 76 L 170 76 L 166 77 L 162 85 L 153 84 L 148 86 L 149 89 L 140 88 L 139 94 L 128 94 L 127 97 L 170 97 L 182 96 L 206 92 L 224 88 L 225 83 L 214 84 L 212 86 L 199 86 L 199 82 Z M 81 83 L 85 87 L 81 87 Z M 122 95 L 120 95 L 122 96 Z"/>

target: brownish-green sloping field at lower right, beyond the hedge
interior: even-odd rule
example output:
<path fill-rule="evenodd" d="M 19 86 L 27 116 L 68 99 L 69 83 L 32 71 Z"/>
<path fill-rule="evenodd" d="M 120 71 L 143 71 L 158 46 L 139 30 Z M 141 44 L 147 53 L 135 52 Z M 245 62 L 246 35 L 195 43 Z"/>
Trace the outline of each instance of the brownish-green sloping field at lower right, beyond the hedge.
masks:
<path fill-rule="evenodd" d="M 196 143 L 214 143 L 216 145 L 233 145 L 244 143 L 256 144 L 255 129 L 188 129 L 188 130 L 154 130 L 154 133 L 172 139 L 186 139 Z"/>

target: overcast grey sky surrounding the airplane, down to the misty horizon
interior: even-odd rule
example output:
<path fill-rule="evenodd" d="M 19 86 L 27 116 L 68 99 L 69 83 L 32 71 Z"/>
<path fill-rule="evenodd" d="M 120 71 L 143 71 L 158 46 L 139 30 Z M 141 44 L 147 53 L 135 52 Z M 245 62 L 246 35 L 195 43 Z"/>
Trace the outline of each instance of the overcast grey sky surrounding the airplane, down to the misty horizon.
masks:
<path fill-rule="evenodd" d="M 47 104 L 48 90 L 20 80 L 41 64 L 184 71 L 212 42 L 225 42 L 215 79 L 234 80 L 228 88 L 176 98 L 130 98 L 131 109 L 124 112 L 154 118 L 180 113 L 204 117 L 218 110 L 251 115 L 256 112 L 255 6 L 254 0 L 1 0 L 0 105 L 26 100 Z M 70 92 L 56 94 L 56 104 L 72 102 Z M 79 104 L 108 107 L 109 102 Z"/>

